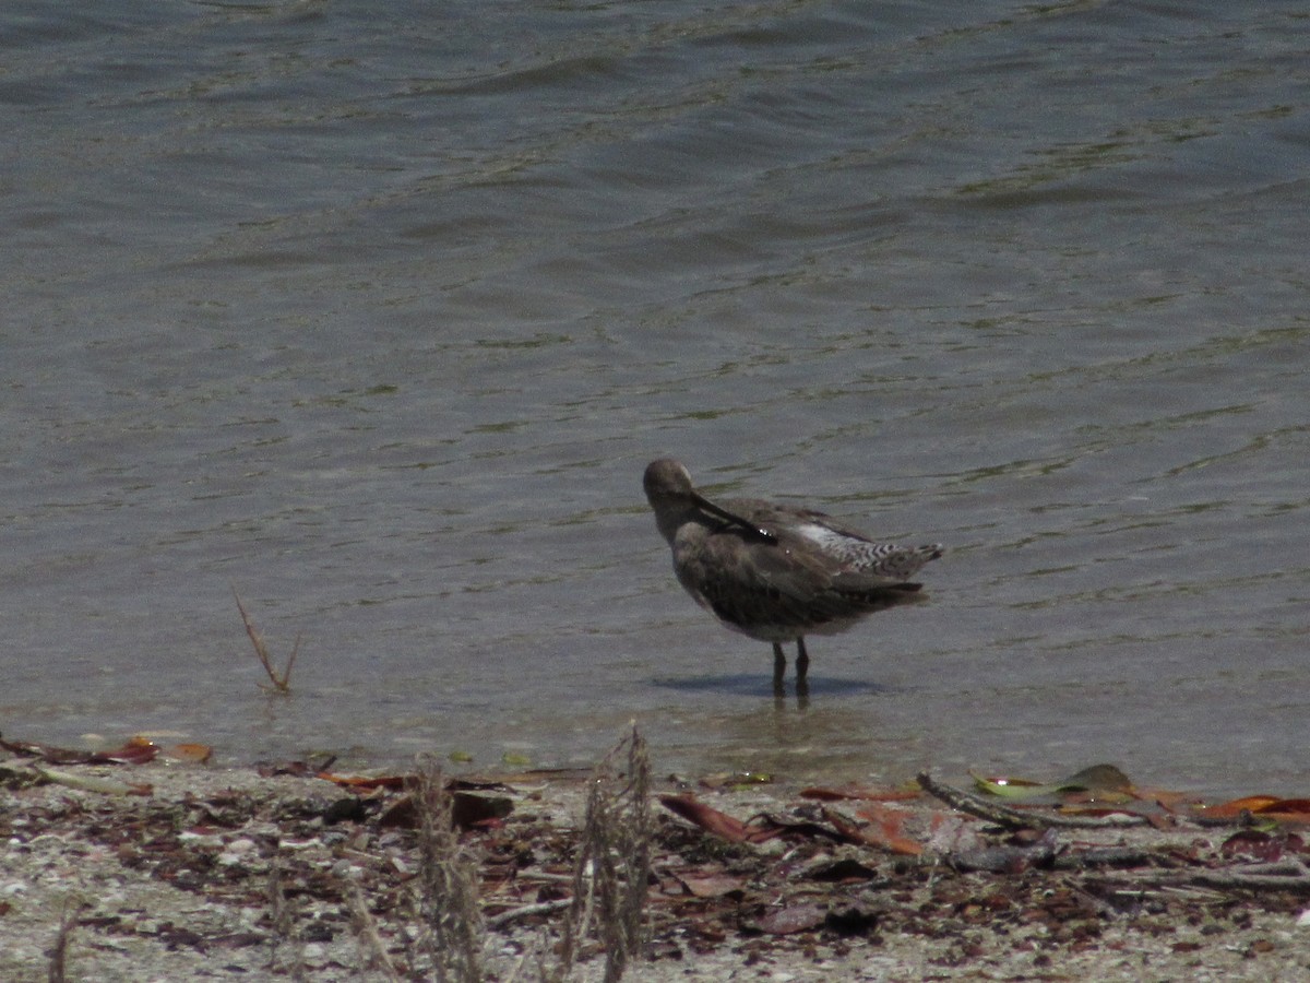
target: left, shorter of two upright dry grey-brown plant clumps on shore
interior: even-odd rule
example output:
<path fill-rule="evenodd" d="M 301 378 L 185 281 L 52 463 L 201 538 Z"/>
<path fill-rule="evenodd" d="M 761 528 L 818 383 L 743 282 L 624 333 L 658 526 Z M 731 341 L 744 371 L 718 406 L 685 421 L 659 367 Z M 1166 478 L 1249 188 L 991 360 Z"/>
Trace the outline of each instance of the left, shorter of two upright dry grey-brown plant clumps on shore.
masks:
<path fill-rule="evenodd" d="M 441 769 L 427 756 L 418 764 L 411 794 L 419 817 L 419 904 L 431 931 L 434 969 L 441 983 L 479 983 L 483 928 L 476 870 L 460 849 Z"/>

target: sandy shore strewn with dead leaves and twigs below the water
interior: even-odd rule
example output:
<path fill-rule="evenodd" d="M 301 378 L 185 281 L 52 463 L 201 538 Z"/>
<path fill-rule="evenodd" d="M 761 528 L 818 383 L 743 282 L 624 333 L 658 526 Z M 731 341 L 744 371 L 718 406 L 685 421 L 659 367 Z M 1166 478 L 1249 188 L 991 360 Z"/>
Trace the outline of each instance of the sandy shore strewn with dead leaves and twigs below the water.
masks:
<path fill-rule="evenodd" d="M 431 893 L 451 885 L 405 790 L 271 771 L 60 765 L 51 781 L 0 761 L 0 979 L 435 978 L 428 927 L 452 902 Z M 487 979 L 558 959 L 591 788 L 532 773 L 461 793 L 441 869 L 477 891 Z M 646 958 L 626 979 L 1310 979 L 1310 857 L 1281 827 L 1015 832 L 930 797 L 799 782 L 651 793 Z M 575 978 L 604 975 L 601 915 L 572 923 Z"/>

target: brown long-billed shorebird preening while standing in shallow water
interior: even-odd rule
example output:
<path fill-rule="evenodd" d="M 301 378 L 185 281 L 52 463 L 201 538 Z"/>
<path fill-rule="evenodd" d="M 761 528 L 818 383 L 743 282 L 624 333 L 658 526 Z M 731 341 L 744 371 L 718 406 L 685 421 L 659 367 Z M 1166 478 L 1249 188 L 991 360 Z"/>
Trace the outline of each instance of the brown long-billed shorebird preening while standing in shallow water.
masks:
<path fill-rule="evenodd" d="M 655 524 L 673 548 L 686 592 L 724 625 L 773 642 L 773 687 L 782 692 L 796 644 L 796 692 L 806 692 L 807 634 L 845 632 L 875 611 L 921 600 L 910 577 L 942 554 L 938 544 L 874 543 L 823 512 L 756 498 L 711 502 L 679 461 L 646 467 L 642 480 Z"/>

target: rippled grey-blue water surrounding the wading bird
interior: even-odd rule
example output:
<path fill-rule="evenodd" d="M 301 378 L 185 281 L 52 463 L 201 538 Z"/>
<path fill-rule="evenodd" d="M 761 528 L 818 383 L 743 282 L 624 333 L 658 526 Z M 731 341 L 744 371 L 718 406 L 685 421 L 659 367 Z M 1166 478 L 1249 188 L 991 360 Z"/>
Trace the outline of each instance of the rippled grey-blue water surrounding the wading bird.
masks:
<path fill-rule="evenodd" d="M 13 1 L 0 119 L 7 735 L 1310 790 L 1305 4 Z M 777 706 L 662 455 L 933 603 Z"/>

